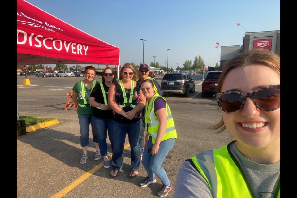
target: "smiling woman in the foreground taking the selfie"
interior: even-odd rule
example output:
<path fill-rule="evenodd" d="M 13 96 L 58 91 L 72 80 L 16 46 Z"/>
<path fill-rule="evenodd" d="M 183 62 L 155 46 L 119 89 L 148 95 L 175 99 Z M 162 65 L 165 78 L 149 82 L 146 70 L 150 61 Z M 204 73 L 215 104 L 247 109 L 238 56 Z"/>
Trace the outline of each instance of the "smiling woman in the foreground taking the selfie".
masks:
<path fill-rule="evenodd" d="M 214 98 L 235 141 L 183 162 L 174 197 L 280 197 L 280 57 L 265 49 L 226 62 Z"/>

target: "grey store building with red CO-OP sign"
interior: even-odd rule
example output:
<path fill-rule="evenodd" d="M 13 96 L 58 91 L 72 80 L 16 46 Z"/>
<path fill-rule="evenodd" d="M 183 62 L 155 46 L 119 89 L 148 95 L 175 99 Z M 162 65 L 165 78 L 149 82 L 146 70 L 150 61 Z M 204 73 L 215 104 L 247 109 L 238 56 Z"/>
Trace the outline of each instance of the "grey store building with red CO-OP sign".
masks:
<path fill-rule="evenodd" d="M 221 70 L 224 63 L 236 54 L 253 49 L 268 49 L 281 56 L 281 31 L 246 32 L 242 45 L 221 46 Z"/>

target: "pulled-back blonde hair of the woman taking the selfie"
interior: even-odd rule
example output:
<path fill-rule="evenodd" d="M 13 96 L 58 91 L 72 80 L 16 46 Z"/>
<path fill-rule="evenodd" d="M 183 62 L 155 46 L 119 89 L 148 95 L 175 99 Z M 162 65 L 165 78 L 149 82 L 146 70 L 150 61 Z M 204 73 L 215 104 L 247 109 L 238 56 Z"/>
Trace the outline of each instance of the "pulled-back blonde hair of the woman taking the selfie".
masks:
<path fill-rule="evenodd" d="M 255 64 L 265 65 L 274 71 L 277 71 L 279 74 L 281 73 L 281 58 L 277 54 L 267 50 L 267 49 L 254 49 L 252 51 L 248 51 L 245 54 L 238 54 L 234 58 L 228 60 L 222 69 L 221 76 L 217 83 L 217 93 L 221 92 L 222 84 L 226 79 L 227 74 L 238 67 L 248 67 Z M 256 72 L 256 71 L 255 71 Z M 209 127 L 210 129 L 215 129 L 218 133 L 224 131 L 226 129 L 223 118 L 219 123 Z"/>

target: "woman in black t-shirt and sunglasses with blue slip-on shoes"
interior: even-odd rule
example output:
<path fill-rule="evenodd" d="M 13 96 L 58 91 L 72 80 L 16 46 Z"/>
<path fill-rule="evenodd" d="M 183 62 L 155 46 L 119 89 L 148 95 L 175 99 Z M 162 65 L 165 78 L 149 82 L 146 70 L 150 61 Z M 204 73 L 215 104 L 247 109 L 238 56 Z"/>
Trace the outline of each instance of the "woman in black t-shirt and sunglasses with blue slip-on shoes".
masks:
<path fill-rule="evenodd" d="M 111 107 L 108 105 L 108 89 L 115 81 L 113 69 L 107 67 L 103 70 L 102 82 L 96 84 L 89 98 L 89 104 L 93 106 L 93 115 L 91 117 L 98 135 L 98 144 L 101 156 L 104 157 L 104 168 L 109 168 L 110 163 L 107 156 L 107 134 L 110 140 L 111 148 L 113 147 L 113 114 Z"/>

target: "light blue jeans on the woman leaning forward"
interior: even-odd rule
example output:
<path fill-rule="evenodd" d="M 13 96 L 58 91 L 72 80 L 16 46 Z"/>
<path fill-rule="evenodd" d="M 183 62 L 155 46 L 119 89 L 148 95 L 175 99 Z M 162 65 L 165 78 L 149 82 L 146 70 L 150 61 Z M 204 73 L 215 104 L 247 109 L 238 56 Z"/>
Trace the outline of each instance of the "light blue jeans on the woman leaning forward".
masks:
<path fill-rule="evenodd" d="M 170 138 L 168 140 L 164 140 L 159 144 L 158 153 L 152 155 L 151 153 L 148 154 L 148 150 L 152 149 L 152 138 L 150 137 L 149 142 L 147 143 L 147 147 L 143 151 L 142 155 L 142 165 L 150 179 L 155 178 L 155 174 L 161 180 L 161 182 L 165 185 L 169 185 L 169 179 L 165 170 L 161 167 L 165 157 L 167 156 L 168 152 L 173 148 L 175 142 L 175 138 Z"/>

